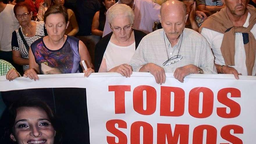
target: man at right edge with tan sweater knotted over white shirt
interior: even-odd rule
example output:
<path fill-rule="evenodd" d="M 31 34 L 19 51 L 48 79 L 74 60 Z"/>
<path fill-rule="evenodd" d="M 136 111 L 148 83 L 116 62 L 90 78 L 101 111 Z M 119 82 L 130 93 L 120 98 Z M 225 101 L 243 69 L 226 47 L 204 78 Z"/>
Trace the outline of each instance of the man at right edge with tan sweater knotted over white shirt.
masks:
<path fill-rule="evenodd" d="M 226 8 L 211 15 L 199 32 L 207 39 L 218 73 L 256 75 L 256 9 L 249 0 L 224 0 Z"/>

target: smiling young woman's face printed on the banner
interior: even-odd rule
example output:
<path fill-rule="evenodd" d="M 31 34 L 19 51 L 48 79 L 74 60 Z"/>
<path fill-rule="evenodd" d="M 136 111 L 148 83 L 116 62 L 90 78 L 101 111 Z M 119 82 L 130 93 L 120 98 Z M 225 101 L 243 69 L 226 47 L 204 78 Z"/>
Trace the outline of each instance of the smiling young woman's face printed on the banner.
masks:
<path fill-rule="evenodd" d="M 53 144 L 55 130 L 47 113 L 38 107 L 20 107 L 10 135 L 18 144 Z"/>

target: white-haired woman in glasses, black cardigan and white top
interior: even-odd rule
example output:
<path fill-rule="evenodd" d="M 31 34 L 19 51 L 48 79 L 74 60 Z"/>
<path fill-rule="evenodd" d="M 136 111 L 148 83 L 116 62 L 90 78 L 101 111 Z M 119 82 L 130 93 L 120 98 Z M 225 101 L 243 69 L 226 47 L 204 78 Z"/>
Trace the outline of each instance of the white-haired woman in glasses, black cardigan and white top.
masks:
<path fill-rule="evenodd" d="M 134 30 L 134 12 L 125 4 L 115 4 L 108 10 L 107 19 L 112 32 L 104 36 L 95 48 L 95 71 L 118 72 L 130 77 L 130 62 L 141 39 L 146 35 Z"/>

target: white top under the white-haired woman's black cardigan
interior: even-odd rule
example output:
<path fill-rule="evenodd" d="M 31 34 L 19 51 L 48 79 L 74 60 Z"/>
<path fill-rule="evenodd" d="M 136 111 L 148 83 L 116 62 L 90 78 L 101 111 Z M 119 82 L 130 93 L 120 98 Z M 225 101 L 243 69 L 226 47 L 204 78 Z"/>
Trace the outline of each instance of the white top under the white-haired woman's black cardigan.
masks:
<path fill-rule="evenodd" d="M 118 65 L 129 63 L 135 53 L 135 42 L 127 47 L 121 47 L 109 41 L 103 58 L 106 60 L 107 71 Z"/>

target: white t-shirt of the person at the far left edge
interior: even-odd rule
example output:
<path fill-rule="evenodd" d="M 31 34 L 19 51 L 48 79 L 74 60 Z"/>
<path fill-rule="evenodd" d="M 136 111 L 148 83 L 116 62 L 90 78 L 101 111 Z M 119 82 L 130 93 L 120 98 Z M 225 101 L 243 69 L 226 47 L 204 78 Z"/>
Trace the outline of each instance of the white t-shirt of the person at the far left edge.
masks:
<path fill-rule="evenodd" d="M 0 13 L 0 50 L 11 51 L 12 33 L 19 29 L 19 22 L 13 12 L 14 5 L 7 4 Z"/>

